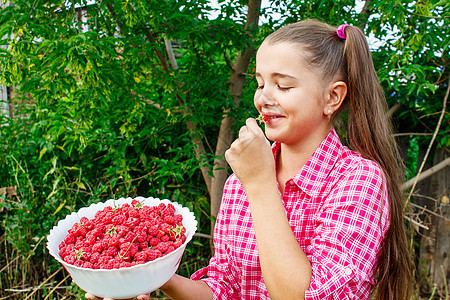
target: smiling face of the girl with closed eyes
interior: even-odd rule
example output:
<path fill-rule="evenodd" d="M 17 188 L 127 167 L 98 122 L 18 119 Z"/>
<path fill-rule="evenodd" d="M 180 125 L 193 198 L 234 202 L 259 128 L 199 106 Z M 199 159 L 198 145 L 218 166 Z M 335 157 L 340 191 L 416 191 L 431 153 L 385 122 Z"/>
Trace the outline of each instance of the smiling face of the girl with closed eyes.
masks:
<path fill-rule="evenodd" d="M 269 119 L 268 139 L 287 145 L 322 140 L 330 129 L 329 87 L 303 62 L 302 49 L 290 43 L 264 42 L 256 55 L 256 109 Z"/>

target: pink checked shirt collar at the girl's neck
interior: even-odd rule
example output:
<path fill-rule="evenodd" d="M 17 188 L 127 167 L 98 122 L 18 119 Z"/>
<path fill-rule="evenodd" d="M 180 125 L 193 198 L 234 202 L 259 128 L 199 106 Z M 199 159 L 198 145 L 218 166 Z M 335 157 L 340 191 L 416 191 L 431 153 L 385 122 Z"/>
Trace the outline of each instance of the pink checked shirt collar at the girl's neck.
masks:
<path fill-rule="evenodd" d="M 335 129 L 332 128 L 306 164 L 292 178 L 293 182 L 309 196 L 317 196 L 322 187 L 326 185 L 326 178 L 341 156 L 343 147 Z M 280 148 L 280 143 L 275 142 L 273 144 L 272 152 L 275 158 Z"/>

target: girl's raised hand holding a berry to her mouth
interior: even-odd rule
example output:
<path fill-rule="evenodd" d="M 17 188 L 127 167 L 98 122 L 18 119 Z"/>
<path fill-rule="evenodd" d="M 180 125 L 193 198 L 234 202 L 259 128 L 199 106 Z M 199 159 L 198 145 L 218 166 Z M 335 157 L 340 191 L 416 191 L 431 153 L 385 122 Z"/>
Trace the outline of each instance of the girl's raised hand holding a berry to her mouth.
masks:
<path fill-rule="evenodd" d="M 275 178 L 275 161 L 269 141 L 255 119 L 248 118 L 225 159 L 244 185 L 264 184 Z"/>

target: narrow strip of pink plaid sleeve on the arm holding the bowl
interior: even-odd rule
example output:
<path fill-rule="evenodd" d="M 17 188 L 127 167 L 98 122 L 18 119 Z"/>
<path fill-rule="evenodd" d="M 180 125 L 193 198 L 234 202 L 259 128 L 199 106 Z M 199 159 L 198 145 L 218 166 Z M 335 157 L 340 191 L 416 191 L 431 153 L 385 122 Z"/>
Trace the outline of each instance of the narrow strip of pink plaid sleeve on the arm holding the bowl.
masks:
<path fill-rule="evenodd" d="M 214 300 L 236 299 L 233 294 L 237 293 L 237 291 L 233 290 L 233 286 L 236 286 L 236 284 L 229 282 L 233 276 L 230 272 L 226 253 L 226 236 L 229 225 L 229 217 L 227 215 L 230 212 L 229 197 L 227 195 L 230 194 L 230 181 L 231 179 L 229 178 L 225 183 L 222 202 L 214 228 L 214 256 L 210 259 L 207 267 L 198 270 L 191 276 L 192 280 L 203 280 L 209 285 L 213 292 Z M 204 278 L 205 276 L 207 277 Z"/>

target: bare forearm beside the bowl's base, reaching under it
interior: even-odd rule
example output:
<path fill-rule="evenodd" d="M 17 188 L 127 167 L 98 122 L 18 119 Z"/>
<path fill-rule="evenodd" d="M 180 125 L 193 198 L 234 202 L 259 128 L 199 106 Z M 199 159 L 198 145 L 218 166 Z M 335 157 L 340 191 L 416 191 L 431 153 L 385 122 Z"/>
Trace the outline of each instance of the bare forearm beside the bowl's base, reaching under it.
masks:
<path fill-rule="evenodd" d="M 204 281 L 195 281 L 179 275 L 172 278 L 161 287 L 170 298 L 177 300 L 210 300 L 211 288 Z"/>

